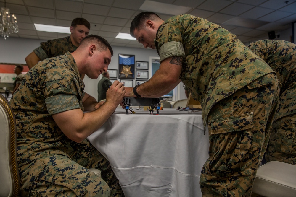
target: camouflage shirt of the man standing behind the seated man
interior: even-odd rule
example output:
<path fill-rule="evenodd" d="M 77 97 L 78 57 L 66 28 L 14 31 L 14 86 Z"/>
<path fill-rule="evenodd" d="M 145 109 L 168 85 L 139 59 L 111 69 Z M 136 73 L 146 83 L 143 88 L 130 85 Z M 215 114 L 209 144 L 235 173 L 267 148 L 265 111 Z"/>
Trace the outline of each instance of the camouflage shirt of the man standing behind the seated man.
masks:
<path fill-rule="evenodd" d="M 77 47 L 72 44 L 70 36 L 65 38 L 58 38 L 54 40 L 48 40 L 47 42 L 40 43 L 40 47 L 34 49 L 38 58 L 44 60 L 46 58 L 52 58 L 60 55 L 64 55 L 68 51 L 70 53 L 76 51 Z"/>

